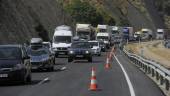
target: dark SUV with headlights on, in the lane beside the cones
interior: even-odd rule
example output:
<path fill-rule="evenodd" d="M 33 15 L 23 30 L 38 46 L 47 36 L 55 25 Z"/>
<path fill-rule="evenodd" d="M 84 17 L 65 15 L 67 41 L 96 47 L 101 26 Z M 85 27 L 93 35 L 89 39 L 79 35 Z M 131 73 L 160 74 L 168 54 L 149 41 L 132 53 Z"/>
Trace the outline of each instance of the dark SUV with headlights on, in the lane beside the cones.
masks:
<path fill-rule="evenodd" d="M 71 48 L 69 48 L 68 62 L 72 62 L 74 59 L 87 59 L 92 62 L 91 46 L 87 41 L 73 42 Z"/>

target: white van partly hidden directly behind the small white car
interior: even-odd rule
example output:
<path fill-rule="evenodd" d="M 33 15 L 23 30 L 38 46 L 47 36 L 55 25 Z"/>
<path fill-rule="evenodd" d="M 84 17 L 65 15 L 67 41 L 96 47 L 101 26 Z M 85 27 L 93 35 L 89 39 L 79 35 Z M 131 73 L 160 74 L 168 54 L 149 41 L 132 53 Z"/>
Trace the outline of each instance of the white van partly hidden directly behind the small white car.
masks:
<path fill-rule="evenodd" d="M 96 40 L 103 40 L 104 43 L 106 44 L 107 48 L 110 48 L 110 40 L 111 40 L 111 36 L 109 35 L 109 33 L 97 33 L 96 35 Z"/>

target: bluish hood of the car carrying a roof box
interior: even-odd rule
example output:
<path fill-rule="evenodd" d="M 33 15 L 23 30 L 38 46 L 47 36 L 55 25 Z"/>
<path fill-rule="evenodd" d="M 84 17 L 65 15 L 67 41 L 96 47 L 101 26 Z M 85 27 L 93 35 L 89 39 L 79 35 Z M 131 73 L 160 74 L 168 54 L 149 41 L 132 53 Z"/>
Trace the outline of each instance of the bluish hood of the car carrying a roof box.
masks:
<path fill-rule="evenodd" d="M 43 62 L 49 59 L 49 55 L 30 56 L 31 62 Z"/>

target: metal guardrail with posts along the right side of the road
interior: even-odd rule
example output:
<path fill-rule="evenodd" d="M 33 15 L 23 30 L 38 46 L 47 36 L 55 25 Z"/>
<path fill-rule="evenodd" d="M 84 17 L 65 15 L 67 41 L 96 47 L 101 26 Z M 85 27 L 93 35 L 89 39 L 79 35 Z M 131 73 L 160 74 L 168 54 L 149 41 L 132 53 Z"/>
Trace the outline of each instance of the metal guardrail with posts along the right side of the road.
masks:
<path fill-rule="evenodd" d="M 169 91 L 170 71 L 168 69 L 153 60 L 148 60 L 144 57 L 128 52 L 125 47 L 123 48 L 123 52 L 146 74 L 151 74 L 151 76 L 157 81 L 158 85 L 164 86 L 164 88 Z"/>

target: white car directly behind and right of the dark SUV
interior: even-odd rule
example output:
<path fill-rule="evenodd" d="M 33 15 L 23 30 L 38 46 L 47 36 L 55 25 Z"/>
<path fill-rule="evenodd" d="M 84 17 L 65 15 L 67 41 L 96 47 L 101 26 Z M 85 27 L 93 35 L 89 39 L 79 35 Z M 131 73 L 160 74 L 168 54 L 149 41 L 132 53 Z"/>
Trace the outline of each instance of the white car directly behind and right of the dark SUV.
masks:
<path fill-rule="evenodd" d="M 93 40 L 93 41 L 88 41 L 88 42 L 92 46 L 92 48 L 91 48 L 92 49 L 92 53 L 94 55 L 100 56 L 101 55 L 101 46 L 100 46 L 99 41 Z"/>

